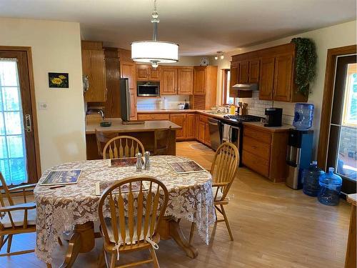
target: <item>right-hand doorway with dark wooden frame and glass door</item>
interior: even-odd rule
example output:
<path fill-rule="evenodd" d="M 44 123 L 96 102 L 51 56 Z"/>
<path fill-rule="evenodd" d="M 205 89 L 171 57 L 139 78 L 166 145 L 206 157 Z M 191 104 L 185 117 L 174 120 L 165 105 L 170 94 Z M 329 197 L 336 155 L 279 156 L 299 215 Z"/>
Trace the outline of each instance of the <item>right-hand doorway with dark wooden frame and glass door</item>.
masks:
<path fill-rule="evenodd" d="M 341 191 L 345 194 L 356 193 L 357 180 L 356 49 L 351 52 L 334 57 L 333 74 L 328 74 L 326 68 L 326 76 L 333 76 L 333 80 L 326 84 L 331 87 L 331 94 L 326 88 L 324 91 L 318 144 L 319 164 L 324 164 L 325 169 L 335 168 L 335 172 L 343 178 Z M 331 101 L 327 99 L 329 94 Z M 324 150 L 326 154 L 323 155 Z"/>

